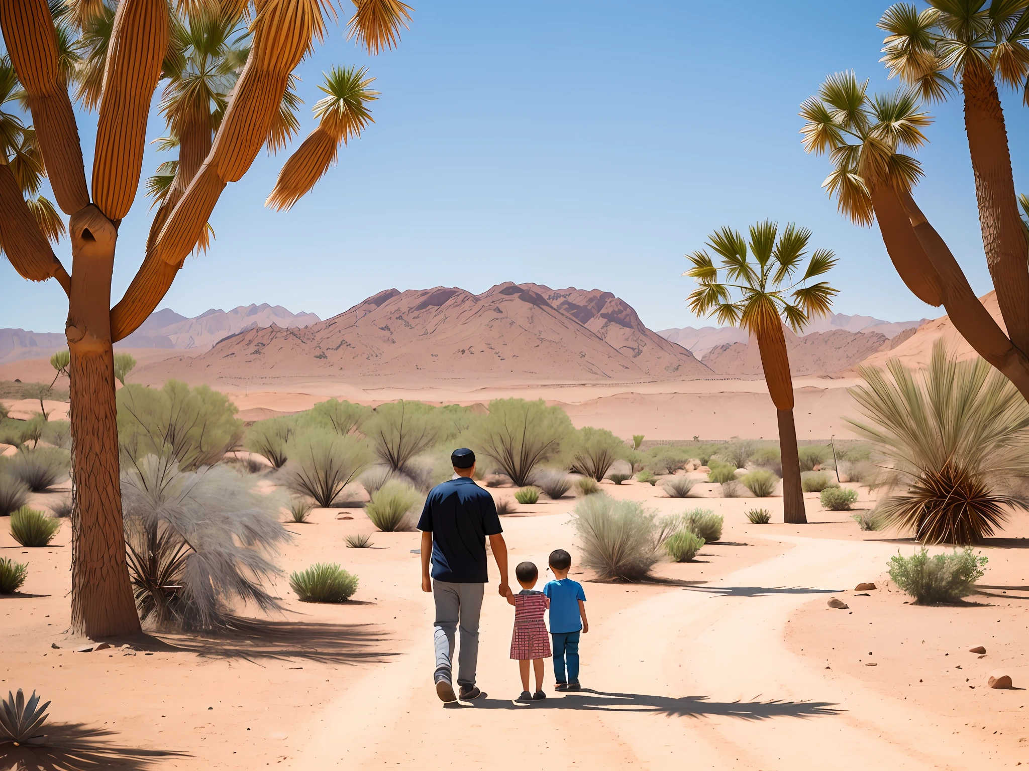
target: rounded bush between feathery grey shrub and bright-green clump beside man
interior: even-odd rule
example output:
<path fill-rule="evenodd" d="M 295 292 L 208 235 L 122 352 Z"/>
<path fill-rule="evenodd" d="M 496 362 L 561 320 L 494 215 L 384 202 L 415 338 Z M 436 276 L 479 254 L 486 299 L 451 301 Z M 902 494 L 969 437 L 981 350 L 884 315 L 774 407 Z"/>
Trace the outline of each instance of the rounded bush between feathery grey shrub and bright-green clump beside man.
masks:
<path fill-rule="evenodd" d="M 305 432 L 288 452 L 286 485 L 322 508 L 332 506 L 343 488 L 371 463 L 364 442 L 324 429 Z"/>

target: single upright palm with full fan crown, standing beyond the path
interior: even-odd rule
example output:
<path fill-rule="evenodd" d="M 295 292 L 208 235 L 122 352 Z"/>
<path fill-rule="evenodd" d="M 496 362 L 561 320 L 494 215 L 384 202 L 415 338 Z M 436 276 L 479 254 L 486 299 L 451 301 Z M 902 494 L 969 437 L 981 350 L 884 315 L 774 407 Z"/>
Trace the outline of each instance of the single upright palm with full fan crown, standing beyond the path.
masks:
<path fill-rule="evenodd" d="M 723 227 L 708 240 L 708 247 L 721 258 L 720 264 L 715 265 L 711 255 L 701 250 L 686 255 L 693 267 L 683 273 L 700 285 L 689 295 L 690 310 L 697 315 L 713 313 L 719 324 L 740 326 L 757 340 L 765 381 L 779 421 L 783 521 L 795 523 L 808 518 L 783 324 L 800 333 L 812 317 L 828 313 L 837 293 L 824 281 L 808 284 L 836 264 L 830 250 L 818 249 L 803 267 L 810 241 L 811 231 L 793 224 L 779 232 L 778 224 L 758 222 L 750 226 L 747 241 L 738 230 Z M 723 271 L 723 279 L 719 271 Z"/>

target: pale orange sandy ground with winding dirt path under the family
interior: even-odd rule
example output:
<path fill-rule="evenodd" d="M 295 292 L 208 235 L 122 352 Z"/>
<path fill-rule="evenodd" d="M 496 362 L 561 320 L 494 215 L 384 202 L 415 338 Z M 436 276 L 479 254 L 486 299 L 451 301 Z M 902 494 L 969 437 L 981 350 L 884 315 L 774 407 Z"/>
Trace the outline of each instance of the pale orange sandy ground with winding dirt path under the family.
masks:
<path fill-rule="evenodd" d="M 347 535 L 374 529 L 361 509 L 317 510 L 311 523 L 289 525 L 295 538 L 279 560 L 287 574 L 342 563 L 360 578 L 351 601 L 301 603 L 283 580 L 287 616 L 245 633 L 158 633 L 111 640 L 136 650 L 92 653 L 75 652 L 86 640 L 65 631 L 69 528 L 49 548 L 24 549 L 4 524 L 0 556 L 28 562 L 30 574 L 23 593 L 0 598 L 0 686 L 52 700 L 58 746 L 6 745 L 0 767 L 13 752 L 55 769 L 1029 765 L 1025 517 L 982 549 L 984 593 L 962 607 L 920 608 L 885 575 L 889 556 L 913 544 L 862 533 L 848 513 L 821 511 L 814 494 L 811 523 L 785 525 L 781 499 L 668 499 L 635 482 L 604 490 L 663 513 L 711 508 L 725 517 L 723 538 L 695 562 L 660 564 L 653 583 L 600 583 L 573 566 L 589 598 L 586 690 L 554 693 L 547 661 L 548 698 L 526 706 L 512 702 L 521 690 L 508 659 L 512 612 L 495 593 L 483 609 L 487 695 L 450 706 L 436 699 L 419 536 L 377 533 L 375 548 L 348 549 Z M 541 502 L 504 517 L 511 564 L 542 568 L 558 547 L 577 557 L 574 504 Z M 773 511 L 772 524 L 747 522 L 755 505 Z M 880 588 L 853 591 L 866 581 Z M 850 608 L 830 609 L 829 597 Z M 967 650 L 979 645 L 985 658 Z M 987 688 L 998 669 L 1019 688 Z"/>

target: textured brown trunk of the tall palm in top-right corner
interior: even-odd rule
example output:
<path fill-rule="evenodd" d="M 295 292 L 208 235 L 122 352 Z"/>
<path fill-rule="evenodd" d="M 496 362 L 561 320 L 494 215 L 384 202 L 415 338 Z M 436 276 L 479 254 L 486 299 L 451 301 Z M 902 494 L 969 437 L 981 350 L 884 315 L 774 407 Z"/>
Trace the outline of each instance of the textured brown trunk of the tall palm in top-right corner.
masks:
<path fill-rule="evenodd" d="M 987 68 L 969 67 L 961 86 L 986 264 L 997 290 L 1007 335 L 1016 347 L 1025 352 L 1029 351 L 1029 268 L 1004 111 L 993 73 Z"/>

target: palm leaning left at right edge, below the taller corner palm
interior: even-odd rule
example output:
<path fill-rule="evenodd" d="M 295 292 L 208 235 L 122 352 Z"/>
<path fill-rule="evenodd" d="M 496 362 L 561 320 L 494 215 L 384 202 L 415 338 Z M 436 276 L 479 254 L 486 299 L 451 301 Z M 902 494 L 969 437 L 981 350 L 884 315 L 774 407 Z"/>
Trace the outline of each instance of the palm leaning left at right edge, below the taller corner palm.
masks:
<path fill-rule="evenodd" d="M 840 212 L 859 225 L 878 223 L 893 266 L 924 302 L 944 305 L 954 326 L 980 356 L 1029 400 L 1029 358 L 979 301 L 946 242 L 918 208 L 912 188 L 922 177 L 918 160 L 901 152 L 927 141 L 930 118 L 916 95 L 867 95 L 853 72 L 826 78 L 801 105 L 808 152 L 828 153 L 832 173 L 822 186 Z M 1023 237 L 1023 263 L 1025 240 Z M 1024 313 L 1029 314 L 1029 308 Z"/>

